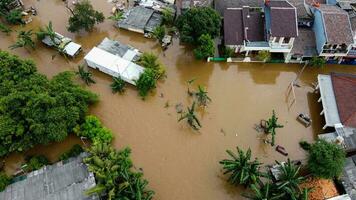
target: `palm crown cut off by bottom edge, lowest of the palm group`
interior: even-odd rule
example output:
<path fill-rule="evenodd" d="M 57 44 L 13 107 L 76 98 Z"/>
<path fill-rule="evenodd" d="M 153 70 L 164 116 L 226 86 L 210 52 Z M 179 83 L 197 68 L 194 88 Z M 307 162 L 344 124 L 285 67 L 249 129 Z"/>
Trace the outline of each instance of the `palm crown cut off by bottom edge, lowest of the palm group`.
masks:
<path fill-rule="evenodd" d="M 265 184 L 252 184 L 250 186 L 253 195 L 243 194 L 242 196 L 252 200 L 280 200 L 283 198 L 284 193 L 280 193 L 276 186 L 270 182 Z"/>

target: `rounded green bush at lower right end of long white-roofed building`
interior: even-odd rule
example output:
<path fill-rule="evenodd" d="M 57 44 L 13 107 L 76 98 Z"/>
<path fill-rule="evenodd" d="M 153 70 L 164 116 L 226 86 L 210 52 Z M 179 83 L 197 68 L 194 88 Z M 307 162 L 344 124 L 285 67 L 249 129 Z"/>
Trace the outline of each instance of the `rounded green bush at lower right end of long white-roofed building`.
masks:
<path fill-rule="evenodd" d="M 140 75 L 140 78 L 135 81 L 139 95 L 145 98 L 152 89 L 156 88 L 156 72 L 153 69 L 146 68 Z"/>

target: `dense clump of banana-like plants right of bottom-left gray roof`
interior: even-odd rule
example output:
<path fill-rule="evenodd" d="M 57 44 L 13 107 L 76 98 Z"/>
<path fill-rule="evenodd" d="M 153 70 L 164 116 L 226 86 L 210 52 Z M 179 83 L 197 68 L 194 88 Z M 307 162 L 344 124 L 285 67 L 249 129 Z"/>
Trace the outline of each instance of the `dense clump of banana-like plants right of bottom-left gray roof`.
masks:
<path fill-rule="evenodd" d="M 134 169 L 129 148 L 118 151 L 107 143 L 94 142 L 87 151 L 84 163 L 96 177 L 96 186 L 87 190 L 87 195 L 98 194 L 108 200 L 152 199 L 154 192 L 147 189 L 143 173 Z"/>

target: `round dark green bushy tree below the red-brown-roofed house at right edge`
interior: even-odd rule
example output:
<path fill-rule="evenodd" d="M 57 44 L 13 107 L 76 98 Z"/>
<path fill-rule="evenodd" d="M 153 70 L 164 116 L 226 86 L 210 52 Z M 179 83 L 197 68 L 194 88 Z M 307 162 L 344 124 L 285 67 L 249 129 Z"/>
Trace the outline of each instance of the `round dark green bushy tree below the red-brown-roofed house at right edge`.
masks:
<path fill-rule="evenodd" d="M 318 140 L 310 146 L 308 169 L 320 178 L 338 177 L 345 165 L 345 151 L 334 143 Z"/>

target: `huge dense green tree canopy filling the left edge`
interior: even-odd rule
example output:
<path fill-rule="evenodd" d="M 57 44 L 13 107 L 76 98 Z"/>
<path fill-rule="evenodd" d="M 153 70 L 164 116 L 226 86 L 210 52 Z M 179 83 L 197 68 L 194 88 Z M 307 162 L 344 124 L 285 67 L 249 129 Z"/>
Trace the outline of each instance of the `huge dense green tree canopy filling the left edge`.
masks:
<path fill-rule="evenodd" d="M 48 80 L 29 60 L 0 51 L 0 156 L 62 141 L 98 97 L 63 72 Z"/>

